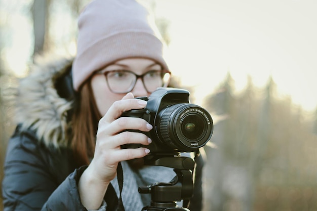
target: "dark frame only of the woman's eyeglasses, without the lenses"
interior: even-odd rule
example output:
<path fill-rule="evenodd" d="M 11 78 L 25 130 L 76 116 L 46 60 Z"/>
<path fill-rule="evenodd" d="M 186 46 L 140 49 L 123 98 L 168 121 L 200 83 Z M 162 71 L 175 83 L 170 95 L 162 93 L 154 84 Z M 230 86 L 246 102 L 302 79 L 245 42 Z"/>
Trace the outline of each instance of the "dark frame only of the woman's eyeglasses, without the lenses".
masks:
<path fill-rule="evenodd" d="M 129 73 L 132 73 L 133 75 L 136 76 L 136 79 L 135 79 L 133 85 L 131 85 L 131 88 L 130 88 L 128 91 L 125 91 L 125 92 L 116 92 L 116 91 L 114 91 L 114 90 L 111 89 L 111 87 L 110 87 L 110 85 L 109 85 L 109 82 L 108 82 L 108 77 L 107 77 L 107 75 L 108 75 L 109 73 L 111 73 L 111 72 L 118 72 L 118 71 L 119 71 L 119 72 L 120 72 L 120 71 L 121 71 L 121 72 L 129 72 Z M 165 82 L 165 84 L 162 85 L 162 87 L 167 87 L 167 86 L 168 86 L 168 83 L 169 83 L 170 78 L 171 78 L 171 72 L 170 72 L 169 70 L 165 70 L 165 69 L 163 69 L 163 70 L 150 70 L 150 71 L 147 71 L 147 72 L 143 73 L 142 75 L 135 74 L 133 71 L 130 71 L 130 70 L 111 70 L 111 71 L 105 71 L 105 72 L 97 71 L 96 73 L 97 73 L 97 74 L 103 74 L 103 75 L 105 76 L 106 82 L 107 82 L 107 86 L 108 86 L 109 90 L 110 90 L 112 93 L 114 93 L 114 94 L 127 94 L 127 93 L 131 92 L 131 91 L 134 89 L 134 87 L 135 87 L 135 85 L 136 85 L 136 82 L 137 82 L 137 80 L 138 80 L 139 78 L 141 78 L 141 81 L 142 81 L 142 83 L 143 83 L 143 87 L 145 88 L 146 92 L 148 92 L 148 93 L 154 92 L 154 91 L 150 92 L 150 91 L 147 90 L 147 88 L 146 88 L 146 86 L 145 86 L 145 83 L 144 83 L 144 80 L 143 80 L 143 77 L 144 77 L 146 74 L 148 74 L 149 72 L 160 72 L 161 75 L 162 75 L 162 78 L 163 78 L 163 76 L 164 76 L 166 73 L 168 73 L 168 74 L 169 74 L 169 79 L 167 80 L 167 82 Z M 163 83 L 164 83 L 164 80 L 163 80 Z M 159 88 L 159 87 L 158 87 L 158 88 Z"/>

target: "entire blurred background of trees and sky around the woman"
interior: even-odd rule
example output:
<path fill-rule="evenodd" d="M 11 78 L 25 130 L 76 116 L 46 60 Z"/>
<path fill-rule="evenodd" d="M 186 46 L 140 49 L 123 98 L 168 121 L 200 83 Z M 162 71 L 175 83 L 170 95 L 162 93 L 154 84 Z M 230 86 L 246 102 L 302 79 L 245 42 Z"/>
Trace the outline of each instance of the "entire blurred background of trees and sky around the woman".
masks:
<path fill-rule="evenodd" d="M 75 55 L 88 2 L 0 0 L 0 180 L 14 88 L 34 56 Z M 215 120 L 204 210 L 317 210 L 317 1 L 145 2 L 179 86 Z"/>

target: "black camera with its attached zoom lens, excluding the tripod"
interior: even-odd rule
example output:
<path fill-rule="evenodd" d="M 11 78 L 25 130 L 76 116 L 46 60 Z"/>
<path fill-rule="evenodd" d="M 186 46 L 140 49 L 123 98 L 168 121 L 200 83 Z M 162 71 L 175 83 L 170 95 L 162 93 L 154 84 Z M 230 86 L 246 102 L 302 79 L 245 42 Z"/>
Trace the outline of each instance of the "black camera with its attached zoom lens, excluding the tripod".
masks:
<path fill-rule="evenodd" d="M 183 89 L 159 88 L 148 98 L 144 109 L 126 111 L 122 116 L 143 118 L 153 129 L 141 132 L 151 138 L 148 146 L 126 144 L 122 148 L 146 147 L 151 154 L 193 152 L 203 147 L 213 133 L 213 120 L 204 108 L 189 103 L 189 92 Z M 134 131 L 135 132 L 135 131 Z"/>

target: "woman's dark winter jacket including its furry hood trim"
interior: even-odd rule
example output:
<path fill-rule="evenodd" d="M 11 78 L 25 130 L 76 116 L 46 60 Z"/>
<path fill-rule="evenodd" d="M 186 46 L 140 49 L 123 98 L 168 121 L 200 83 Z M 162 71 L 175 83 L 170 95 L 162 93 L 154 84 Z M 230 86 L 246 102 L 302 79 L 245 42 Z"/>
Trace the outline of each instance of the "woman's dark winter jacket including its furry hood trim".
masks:
<path fill-rule="evenodd" d="M 46 62 L 20 83 L 16 102 L 19 125 L 9 141 L 4 167 L 5 211 L 87 210 L 77 189 L 87 166 L 76 166 L 71 149 L 66 147 L 71 102 L 55 89 L 57 78 L 69 71 L 71 64 L 65 59 Z M 202 164 L 199 159 L 191 211 L 202 209 Z M 111 187 L 104 199 L 107 210 L 116 209 L 117 197 Z"/>

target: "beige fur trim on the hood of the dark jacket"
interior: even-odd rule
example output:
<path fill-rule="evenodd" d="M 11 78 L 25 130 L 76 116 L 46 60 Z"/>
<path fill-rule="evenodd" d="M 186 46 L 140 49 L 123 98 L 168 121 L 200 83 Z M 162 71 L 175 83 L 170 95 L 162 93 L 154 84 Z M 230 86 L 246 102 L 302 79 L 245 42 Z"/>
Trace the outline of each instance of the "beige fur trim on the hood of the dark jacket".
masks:
<path fill-rule="evenodd" d="M 59 148 L 69 141 L 67 111 L 72 108 L 72 102 L 61 98 L 54 85 L 71 68 L 72 61 L 72 58 L 42 59 L 19 82 L 16 121 L 22 130 L 35 130 L 38 140 L 47 146 Z"/>

